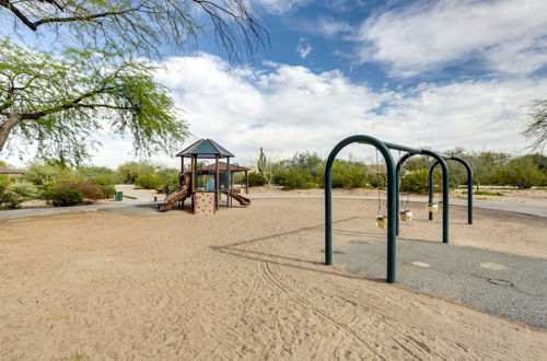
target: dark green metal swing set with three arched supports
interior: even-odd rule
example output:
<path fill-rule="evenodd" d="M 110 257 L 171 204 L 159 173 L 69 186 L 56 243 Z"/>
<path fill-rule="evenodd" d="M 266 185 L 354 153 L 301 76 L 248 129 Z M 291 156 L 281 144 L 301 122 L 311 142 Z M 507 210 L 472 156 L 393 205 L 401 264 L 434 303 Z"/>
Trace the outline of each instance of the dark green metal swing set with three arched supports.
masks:
<path fill-rule="evenodd" d="M 430 212 L 430 220 L 432 220 L 433 207 L 433 171 L 434 167 L 441 164 L 442 178 L 443 178 L 443 191 L 442 191 L 442 206 L 443 206 L 443 220 L 442 220 L 442 241 L 444 244 L 449 243 L 449 167 L 445 160 L 454 160 L 462 164 L 467 170 L 467 183 L 470 187 L 468 190 L 468 224 L 473 224 L 473 172 L 470 166 L 458 158 L 442 156 L 438 153 L 426 150 L 416 149 L 406 145 L 395 144 L 391 142 L 384 142 L 376 138 L 358 135 L 348 137 L 341 140 L 328 155 L 327 163 L 325 166 L 325 265 L 333 265 L 333 165 L 336 155 L 347 145 L 351 143 L 365 143 L 373 145 L 376 151 L 384 156 L 386 172 L 387 172 L 387 214 L 376 218 L 376 225 L 379 228 L 385 228 L 387 230 L 387 282 L 396 282 L 396 240 L 399 233 L 399 176 L 400 168 L 406 160 L 416 154 L 422 154 L 431 156 L 435 160 L 430 168 L 429 177 L 429 202 L 428 210 Z M 393 159 L 391 150 L 398 150 L 407 152 L 404 156 L 399 159 L 397 163 Z M 469 189 L 469 188 L 468 188 Z M 382 218 L 382 225 L 379 225 L 379 219 Z M 387 219 L 386 219 L 387 218 Z"/>

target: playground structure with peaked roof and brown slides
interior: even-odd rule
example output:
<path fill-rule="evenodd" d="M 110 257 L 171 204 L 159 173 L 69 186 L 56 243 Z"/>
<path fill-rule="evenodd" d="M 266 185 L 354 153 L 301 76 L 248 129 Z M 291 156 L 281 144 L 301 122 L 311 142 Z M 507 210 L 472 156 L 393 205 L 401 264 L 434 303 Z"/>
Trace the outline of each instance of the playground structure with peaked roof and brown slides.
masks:
<path fill-rule="evenodd" d="M 249 206 L 251 200 L 237 194 L 241 188 L 233 187 L 233 174 L 236 172 L 245 173 L 245 193 L 248 193 L 248 168 L 230 164 L 230 159 L 234 154 L 212 139 L 200 139 L 194 144 L 178 152 L 176 156 L 181 156 L 181 188 L 168 193 L 165 197 L 163 207 L 160 211 L 168 211 L 173 209 L 176 202 L 179 202 L 181 209 L 184 209 L 186 198 L 191 200 L 191 209 L 194 213 L 214 213 L 219 210 L 222 201 L 222 195 L 226 197 L 225 207 L 233 207 L 233 199 L 242 206 Z M 190 171 L 185 171 L 185 159 L 190 160 Z M 205 165 L 198 168 L 198 160 L 212 160 L 214 163 Z M 220 160 L 225 159 L 225 162 Z M 211 197 L 210 194 L 213 194 Z M 206 207 L 206 208 L 203 208 Z M 209 209 L 212 207 L 212 210 Z"/>

